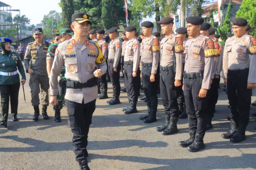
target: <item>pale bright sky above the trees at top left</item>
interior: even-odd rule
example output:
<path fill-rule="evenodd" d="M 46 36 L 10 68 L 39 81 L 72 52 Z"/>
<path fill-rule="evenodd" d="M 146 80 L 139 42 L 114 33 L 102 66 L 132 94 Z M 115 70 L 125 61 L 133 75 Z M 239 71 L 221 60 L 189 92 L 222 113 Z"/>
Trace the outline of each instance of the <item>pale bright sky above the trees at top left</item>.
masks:
<path fill-rule="evenodd" d="M 20 10 L 20 15 L 26 15 L 30 19 L 30 24 L 39 24 L 49 11 L 55 10 L 61 12 L 58 5 L 60 0 L 0 0 L 1 2 L 11 5 L 11 9 Z M 8 8 L 9 9 L 9 8 Z M 12 18 L 19 12 L 11 11 Z"/>

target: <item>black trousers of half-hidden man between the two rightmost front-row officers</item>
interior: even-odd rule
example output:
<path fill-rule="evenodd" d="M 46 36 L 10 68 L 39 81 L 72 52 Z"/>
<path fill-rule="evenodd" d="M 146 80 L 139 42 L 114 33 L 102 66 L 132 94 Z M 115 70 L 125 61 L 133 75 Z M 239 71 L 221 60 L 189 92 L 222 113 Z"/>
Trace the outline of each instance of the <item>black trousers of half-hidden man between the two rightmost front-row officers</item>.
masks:
<path fill-rule="evenodd" d="M 218 97 L 219 97 L 218 84 L 219 84 L 219 78 L 214 78 L 212 80 L 211 88 L 207 92 L 207 95 L 208 95 L 207 115 L 209 116 L 209 118 L 213 117 L 215 105 L 218 101 Z"/>

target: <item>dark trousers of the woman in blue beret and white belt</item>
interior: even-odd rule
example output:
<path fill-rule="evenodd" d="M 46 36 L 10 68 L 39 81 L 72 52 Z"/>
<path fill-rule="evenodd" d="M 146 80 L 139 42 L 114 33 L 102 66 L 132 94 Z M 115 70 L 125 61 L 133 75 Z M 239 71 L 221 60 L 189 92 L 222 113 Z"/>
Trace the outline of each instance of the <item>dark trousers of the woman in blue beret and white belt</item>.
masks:
<path fill-rule="evenodd" d="M 20 83 L 13 85 L 0 85 L 1 93 L 1 121 L 7 121 L 9 112 L 9 101 L 11 102 L 12 116 L 18 114 Z"/>

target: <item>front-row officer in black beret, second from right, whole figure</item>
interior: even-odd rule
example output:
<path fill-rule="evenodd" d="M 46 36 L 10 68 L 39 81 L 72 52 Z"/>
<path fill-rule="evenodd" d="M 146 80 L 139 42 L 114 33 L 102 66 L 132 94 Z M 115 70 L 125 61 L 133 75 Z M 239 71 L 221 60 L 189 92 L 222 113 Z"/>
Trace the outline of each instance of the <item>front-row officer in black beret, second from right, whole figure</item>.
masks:
<path fill-rule="evenodd" d="M 188 113 L 189 139 L 180 141 L 181 147 L 190 152 L 205 148 L 205 117 L 207 114 L 207 91 L 211 86 L 212 65 L 215 49 L 213 41 L 200 34 L 204 19 L 199 16 L 186 18 L 188 35 L 184 69 L 184 96 Z"/>

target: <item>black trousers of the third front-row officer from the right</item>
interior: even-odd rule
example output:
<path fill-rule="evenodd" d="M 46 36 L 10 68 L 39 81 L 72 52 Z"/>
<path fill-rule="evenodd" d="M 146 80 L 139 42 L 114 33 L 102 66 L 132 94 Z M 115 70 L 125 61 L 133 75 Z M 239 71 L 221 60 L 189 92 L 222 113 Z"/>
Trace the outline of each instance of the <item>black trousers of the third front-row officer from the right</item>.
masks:
<path fill-rule="evenodd" d="M 175 73 L 173 70 L 161 70 L 160 94 L 164 105 L 164 114 L 172 118 L 179 118 L 179 87 L 175 87 Z"/>

